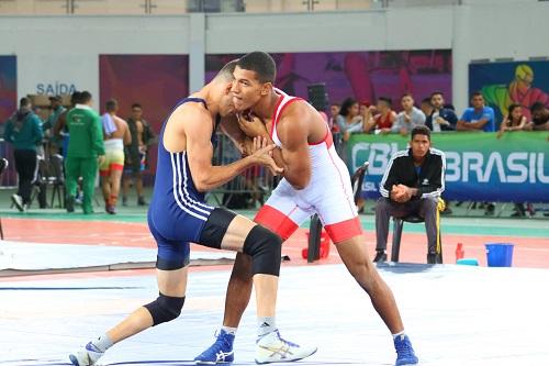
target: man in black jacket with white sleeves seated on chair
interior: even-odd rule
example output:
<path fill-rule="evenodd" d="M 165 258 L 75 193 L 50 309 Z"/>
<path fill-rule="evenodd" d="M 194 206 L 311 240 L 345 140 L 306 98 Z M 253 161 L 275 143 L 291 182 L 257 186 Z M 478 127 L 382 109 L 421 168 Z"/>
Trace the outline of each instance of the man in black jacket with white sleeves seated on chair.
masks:
<path fill-rule="evenodd" d="M 386 260 L 389 219 L 418 214 L 425 220 L 427 231 L 427 263 L 436 263 L 437 206 L 445 189 L 445 154 L 430 147 L 430 130 L 413 129 L 410 148 L 393 155 L 380 184 L 382 197 L 376 206 L 378 253 L 374 262 Z"/>

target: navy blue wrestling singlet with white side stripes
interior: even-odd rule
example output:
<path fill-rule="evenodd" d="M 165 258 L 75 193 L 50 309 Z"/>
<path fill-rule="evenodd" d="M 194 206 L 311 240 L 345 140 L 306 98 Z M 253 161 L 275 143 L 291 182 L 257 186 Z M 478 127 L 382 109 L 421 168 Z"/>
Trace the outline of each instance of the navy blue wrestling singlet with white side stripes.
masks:
<path fill-rule="evenodd" d="M 187 102 L 203 103 L 206 107 L 203 99 L 184 98 L 173 110 Z M 170 270 L 189 264 L 189 243 L 200 242 L 204 224 L 214 207 L 206 204 L 204 193 L 194 187 L 187 152 L 171 153 L 164 147 L 167 121 L 158 137 L 155 186 L 147 221 L 158 245 L 157 268 Z M 215 137 L 215 130 L 212 140 Z"/>

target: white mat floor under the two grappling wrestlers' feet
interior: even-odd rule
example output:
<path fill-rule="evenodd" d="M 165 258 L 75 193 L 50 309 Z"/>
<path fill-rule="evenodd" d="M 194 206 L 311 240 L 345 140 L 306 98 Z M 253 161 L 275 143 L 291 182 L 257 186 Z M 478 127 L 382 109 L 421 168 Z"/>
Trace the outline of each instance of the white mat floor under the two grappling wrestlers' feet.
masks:
<path fill-rule="evenodd" d="M 421 365 L 548 365 L 549 270 L 399 265 L 380 268 Z M 227 270 L 193 271 L 182 315 L 112 347 L 105 365 L 190 365 L 222 319 Z M 156 297 L 152 275 L 0 281 L 0 365 L 60 365 L 67 354 Z M 235 365 L 254 364 L 254 303 Z M 283 267 L 278 324 L 313 343 L 303 365 L 392 365 L 392 340 L 341 265 Z"/>

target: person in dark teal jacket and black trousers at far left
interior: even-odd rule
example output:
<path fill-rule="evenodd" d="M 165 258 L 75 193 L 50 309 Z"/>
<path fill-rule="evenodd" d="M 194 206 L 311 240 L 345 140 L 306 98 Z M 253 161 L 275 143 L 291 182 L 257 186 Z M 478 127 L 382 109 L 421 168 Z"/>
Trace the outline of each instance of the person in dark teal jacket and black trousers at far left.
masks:
<path fill-rule="evenodd" d="M 38 167 L 36 148 L 42 143 L 42 121 L 32 111 L 29 98 L 21 98 L 19 109 L 7 121 L 3 138 L 13 144 L 13 158 L 19 176 L 18 192 L 11 196 L 15 208 L 25 212 L 31 202 Z"/>

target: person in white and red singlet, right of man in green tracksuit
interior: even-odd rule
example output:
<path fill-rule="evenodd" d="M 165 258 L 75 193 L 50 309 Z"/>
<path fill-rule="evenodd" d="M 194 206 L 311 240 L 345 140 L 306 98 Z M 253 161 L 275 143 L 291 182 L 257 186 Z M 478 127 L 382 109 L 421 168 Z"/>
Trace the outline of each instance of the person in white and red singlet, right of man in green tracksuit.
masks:
<path fill-rule="evenodd" d="M 119 102 L 107 101 L 107 113 L 101 118 L 104 134 L 104 160 L 99 166 L 101 187 L 103 189 L 104 210 L 116 213 L 116 201 L 120 193 L 122 170 L 124 170 L 124 145 L 132 143 L 132 135 L 126 121 L 116 115 Z"/>

